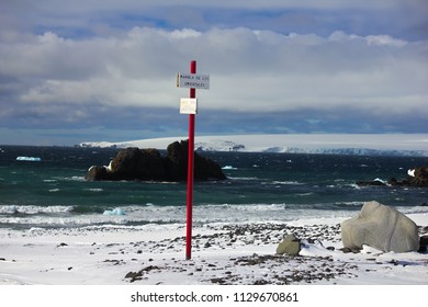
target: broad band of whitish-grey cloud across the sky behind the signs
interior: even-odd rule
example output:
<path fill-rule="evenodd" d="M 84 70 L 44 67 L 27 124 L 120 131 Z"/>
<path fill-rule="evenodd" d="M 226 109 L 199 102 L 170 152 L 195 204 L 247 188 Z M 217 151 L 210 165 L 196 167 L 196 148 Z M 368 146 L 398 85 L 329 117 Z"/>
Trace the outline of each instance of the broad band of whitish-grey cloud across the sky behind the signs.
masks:
<path fill-rule="evenodd" d="M 284 35 L 245 27 L 166 31 L 134 27 L 85 39 L 46 32 L 0 43 L 0 75 L 25 103 L 174 106 L 174 75 L 199 61 L 211 73 L 206 109 L 283 111 L 351 105 L 424 109 L 427 42 L 335 32 Z"/>

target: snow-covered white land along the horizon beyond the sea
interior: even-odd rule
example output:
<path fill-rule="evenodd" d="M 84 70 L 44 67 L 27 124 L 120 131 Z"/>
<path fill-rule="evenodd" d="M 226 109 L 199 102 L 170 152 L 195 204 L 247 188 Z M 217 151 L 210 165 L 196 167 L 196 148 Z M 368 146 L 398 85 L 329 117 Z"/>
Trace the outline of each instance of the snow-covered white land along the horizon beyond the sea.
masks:
<path fill-rule="evenodd" d="M 187 136 L 181 136 L 117 143 L 86 141 L 79 146 L 166 149 L 169 144 L 187 138 Z M 428 157 L 428 135 L 288 134 L 199 136 L 195 138 L 195 150 Z"/>

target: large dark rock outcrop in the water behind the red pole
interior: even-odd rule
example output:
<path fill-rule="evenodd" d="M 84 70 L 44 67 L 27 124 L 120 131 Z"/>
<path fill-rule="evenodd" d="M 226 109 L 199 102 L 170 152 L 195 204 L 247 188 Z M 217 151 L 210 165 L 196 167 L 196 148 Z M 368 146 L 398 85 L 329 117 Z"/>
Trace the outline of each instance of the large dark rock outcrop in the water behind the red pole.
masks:
<path fill-rule="evenodd" d="M 126 148 L 106 167 L 91 167 L 87 180 L 185 181 L 188 140 L 174 141 L 162 157 L 157 149 Z M 226 175 L 213 160 L 194 154 L 194 180 L 224 180 Z"/>

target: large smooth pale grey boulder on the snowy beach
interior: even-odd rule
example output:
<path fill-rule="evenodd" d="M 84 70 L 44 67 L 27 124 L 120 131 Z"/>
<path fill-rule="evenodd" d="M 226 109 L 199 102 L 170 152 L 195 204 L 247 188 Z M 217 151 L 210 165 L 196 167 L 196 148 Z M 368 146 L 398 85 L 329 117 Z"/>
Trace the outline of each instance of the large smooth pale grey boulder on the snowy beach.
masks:
<path fill-rule="evenodd" d="M 341 224 L 343 248 L 361 250 L 363 245 L 388 252 L 418 251 L 417 225 L 398 211 L 369 202 L 358 216 Z"/>

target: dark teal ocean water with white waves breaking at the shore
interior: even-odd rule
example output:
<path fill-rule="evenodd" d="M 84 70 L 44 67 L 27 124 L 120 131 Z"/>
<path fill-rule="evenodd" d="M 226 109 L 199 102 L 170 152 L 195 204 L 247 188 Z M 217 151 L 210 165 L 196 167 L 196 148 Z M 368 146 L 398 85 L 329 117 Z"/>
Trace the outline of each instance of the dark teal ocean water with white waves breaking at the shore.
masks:
<path fill-rule="evenodd" d="M 0 146 L 0 227 L 135 226 L 185 223 L 185 182 L 88 182 L 117 149 Z M 288 221 L 348 217 L 367 201 L 428 212 L 427 187 L 360 187 L 404 179 L 423 157 L 202 152 L 225 181 L 195 182 L 193 223 Z M 16 160 L 18 157 L 41 158 Z"/>

